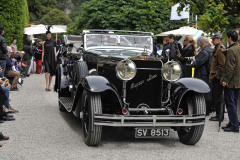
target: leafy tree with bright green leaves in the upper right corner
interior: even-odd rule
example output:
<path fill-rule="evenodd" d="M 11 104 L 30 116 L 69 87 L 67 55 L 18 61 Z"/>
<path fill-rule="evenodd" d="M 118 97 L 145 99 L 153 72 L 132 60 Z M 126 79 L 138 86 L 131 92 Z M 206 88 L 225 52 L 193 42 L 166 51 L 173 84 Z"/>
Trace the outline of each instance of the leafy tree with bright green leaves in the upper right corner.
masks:
<path fill-rule="evenodd" d="M 180 3 L 178 11 L 190 5 L 191 13 L 198 15 L 199 27 L 205 32 L 225 31 L 240 25 L 240 0 L 168 0 Z"/>

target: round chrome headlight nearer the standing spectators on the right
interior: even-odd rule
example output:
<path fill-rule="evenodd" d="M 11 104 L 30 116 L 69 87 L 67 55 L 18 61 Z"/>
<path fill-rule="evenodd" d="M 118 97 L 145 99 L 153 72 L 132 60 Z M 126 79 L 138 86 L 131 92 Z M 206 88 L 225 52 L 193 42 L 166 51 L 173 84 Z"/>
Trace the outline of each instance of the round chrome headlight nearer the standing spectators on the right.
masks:
<path fill-rule="evenodd" d="M 176 81 L 181 77 L 181 66 L 176 61 L 170 61 L 162 67 L 162 76 L 167 81 Z"/>

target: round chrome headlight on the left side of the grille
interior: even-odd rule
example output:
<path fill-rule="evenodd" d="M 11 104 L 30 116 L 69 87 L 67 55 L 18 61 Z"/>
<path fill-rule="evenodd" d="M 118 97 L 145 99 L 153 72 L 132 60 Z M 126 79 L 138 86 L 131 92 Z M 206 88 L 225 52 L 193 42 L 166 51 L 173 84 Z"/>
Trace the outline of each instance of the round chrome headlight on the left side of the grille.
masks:
<path fill-rule="evenodd" d="M 124 59 L 117 64 L 116 72 L 118 78 L 124 81 L 129 81 L 135 77 L 137 67 L 133 61 Z"/>

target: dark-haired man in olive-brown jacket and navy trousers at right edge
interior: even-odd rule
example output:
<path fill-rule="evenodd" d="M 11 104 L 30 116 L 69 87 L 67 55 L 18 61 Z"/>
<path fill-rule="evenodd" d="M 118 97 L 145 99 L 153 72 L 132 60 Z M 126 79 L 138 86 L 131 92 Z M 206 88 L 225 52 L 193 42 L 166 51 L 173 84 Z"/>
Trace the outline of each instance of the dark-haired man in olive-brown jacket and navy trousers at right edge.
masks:
<path fill-rule="evenodd" d="M 238 34 L 231 30 L 227 32 L 229 47 L 226 62 L 221 77 L 221 84 L 225 87 L 225 103 L 228 111 L 229 123 L 222 127 L 225 132 L 239 133 L 239 120 L 237 116 L 237 101 L 240 90 L 240 47 L 237 44 Z M 222 51 L 225 51 L 223 46 Z"/>

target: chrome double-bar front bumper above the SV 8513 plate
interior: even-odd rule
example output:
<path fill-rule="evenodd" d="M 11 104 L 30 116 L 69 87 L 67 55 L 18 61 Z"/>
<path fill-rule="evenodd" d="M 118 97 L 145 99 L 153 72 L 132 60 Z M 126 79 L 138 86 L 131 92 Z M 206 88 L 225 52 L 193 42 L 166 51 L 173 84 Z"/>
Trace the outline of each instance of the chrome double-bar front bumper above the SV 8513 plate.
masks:
<path fill-rule="evenodd" d="M 95 114 L 94 125 L 112 127 L 190 127 L 205 124 L 201 115 L 111 115 Z"/>

